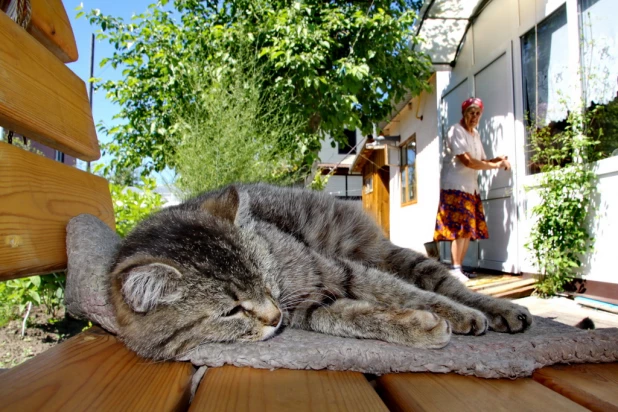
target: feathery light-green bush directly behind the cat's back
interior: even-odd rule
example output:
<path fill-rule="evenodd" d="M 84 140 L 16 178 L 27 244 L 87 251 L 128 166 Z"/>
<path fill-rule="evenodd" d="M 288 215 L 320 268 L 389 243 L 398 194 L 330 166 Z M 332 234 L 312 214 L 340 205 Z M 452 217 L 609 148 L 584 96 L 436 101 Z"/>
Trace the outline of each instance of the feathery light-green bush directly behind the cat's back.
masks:
<path fill-rule="evenodd" d="M 176 187 L 183 197 L 233 182 L 294 183 L 304 175 L 289 138 L 303 136 L 302 119 L 282 110 L 283 96 L 263 90 L 264 73 L 247 53 L 235 70 L 195 73 L 194 104 L 176 121 Z"/>

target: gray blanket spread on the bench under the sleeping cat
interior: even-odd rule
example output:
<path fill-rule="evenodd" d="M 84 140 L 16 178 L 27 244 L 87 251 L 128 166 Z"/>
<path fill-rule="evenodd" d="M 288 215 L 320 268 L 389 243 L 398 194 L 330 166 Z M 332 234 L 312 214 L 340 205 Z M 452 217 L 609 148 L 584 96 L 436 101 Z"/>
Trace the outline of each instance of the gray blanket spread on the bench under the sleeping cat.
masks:
<path fill-rule="evenodd" d="M 105 280 L 119 241 L 112 230 L 91 215 L 77 216 L 67 227 L 67 309 L 73 316 L 89 319 L 111 333 L 116 333 L 118 327 L 105 292 Z M 456 372 L 484 378 L 516 378 L 555 363 L 617 361 L 618 329 L 580 330 L 536 317 L 526 333 L 453 336 L 448 346 L 437 350 L 286 329 L 265 342 L 203 344 L 178 360 L 196 366 L 230 364 L 374 374 Z"/>

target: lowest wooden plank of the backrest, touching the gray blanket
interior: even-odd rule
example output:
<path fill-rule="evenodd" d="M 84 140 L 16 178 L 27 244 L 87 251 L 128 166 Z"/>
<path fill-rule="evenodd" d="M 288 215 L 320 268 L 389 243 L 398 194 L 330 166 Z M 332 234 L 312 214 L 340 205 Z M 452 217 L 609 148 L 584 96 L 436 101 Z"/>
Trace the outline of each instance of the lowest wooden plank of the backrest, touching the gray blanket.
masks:
<path fill-rule="evenodd" d="M 0 280 L 66 268 L 66 225 L 89 213 L 115 228 L 107 181 L 0 143 Z"/>

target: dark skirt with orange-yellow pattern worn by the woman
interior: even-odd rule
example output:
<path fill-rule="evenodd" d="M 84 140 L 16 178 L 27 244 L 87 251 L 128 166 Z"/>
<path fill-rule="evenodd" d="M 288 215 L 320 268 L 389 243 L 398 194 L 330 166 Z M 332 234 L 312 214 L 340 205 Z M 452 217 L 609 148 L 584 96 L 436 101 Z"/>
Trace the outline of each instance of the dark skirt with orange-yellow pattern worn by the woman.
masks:
<path fill-rule="evenodd" d="M 483 202 L 478 194 L 440 190 L 433 240 L 488 239 Z"/>

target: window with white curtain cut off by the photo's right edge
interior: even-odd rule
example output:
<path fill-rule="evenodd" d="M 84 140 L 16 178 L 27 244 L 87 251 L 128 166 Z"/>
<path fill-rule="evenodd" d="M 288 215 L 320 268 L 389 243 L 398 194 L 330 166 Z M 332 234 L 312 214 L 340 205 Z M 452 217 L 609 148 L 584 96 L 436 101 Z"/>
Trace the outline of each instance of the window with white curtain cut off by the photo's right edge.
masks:
<path fill-rule="evenodd" d="M 584 100 L 596 110 L 590 132 L 603 158 L 618 151 L 618 2 L 580 0 L 579 11 Z"/>

